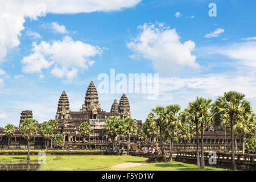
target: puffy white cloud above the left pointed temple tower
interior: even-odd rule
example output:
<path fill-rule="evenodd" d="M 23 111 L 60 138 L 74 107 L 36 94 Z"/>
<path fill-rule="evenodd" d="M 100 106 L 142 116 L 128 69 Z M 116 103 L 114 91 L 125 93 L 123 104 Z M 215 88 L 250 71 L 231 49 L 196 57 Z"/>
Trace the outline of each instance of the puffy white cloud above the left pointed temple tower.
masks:
<path fill-rule="evenodd" d="M 98 46 L 75 41 L 69 36 L 63 40 L 53 40 L 52 42 L 42 41 L 40 44 L 33 43 L 32 53 L 23 58 L 23 72 L 42 72 L 42 69 L 50 68 L 51 74 L 68 79 L 77 76 L 79 69 L 88 69 L 94 63 L 90 57 L 101 55 L 102 49 Z"/>

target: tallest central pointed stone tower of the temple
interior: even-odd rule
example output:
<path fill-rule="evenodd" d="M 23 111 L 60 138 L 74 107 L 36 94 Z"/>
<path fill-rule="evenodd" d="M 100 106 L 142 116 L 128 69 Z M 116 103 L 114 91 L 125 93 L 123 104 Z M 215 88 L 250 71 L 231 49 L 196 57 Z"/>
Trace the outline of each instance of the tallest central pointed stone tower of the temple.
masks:
<path fill-rule="evenodd" d="M 98 111 L 102 111 L 101 105 L 98 104 L 98 93 L 93 81 L 91 81 L 88 86 L 85 94 L 85 101 L 80 111 L 89 111 L 92 115 L 92 119 L 97 119 Z"/>

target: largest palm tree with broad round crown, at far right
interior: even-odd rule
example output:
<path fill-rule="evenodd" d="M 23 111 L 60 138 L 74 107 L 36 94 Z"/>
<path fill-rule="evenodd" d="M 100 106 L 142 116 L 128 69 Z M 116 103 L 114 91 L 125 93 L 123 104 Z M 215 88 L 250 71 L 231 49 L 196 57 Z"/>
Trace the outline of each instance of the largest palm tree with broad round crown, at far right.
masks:
<path fill-rule="evenodd" d="M 231 169 L 236 170 L 235 156 L 234 156 L 234 125 L 241 121 L 245 112 L 245 94 L 230 91 L 224 92 L 224 96 L 218 96 L 214 102 L 212 113 L 214 121 L 221 121 L 229 123 L 231 130 L 231 151 L 232 161 Z"/>

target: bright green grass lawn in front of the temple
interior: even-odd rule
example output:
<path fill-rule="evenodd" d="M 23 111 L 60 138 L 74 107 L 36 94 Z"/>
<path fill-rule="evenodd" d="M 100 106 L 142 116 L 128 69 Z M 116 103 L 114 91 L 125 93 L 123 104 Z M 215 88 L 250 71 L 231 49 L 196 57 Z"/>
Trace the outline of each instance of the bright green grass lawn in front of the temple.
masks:
<path fill-rule="evenodd" d="M 31 156 L 31 160 L 38 160 L 39 156 Z M 0 161 L 26 161 L 27 156 L 0 156 Z M 117 164 L 123 163 L 141 163 L 147 160 L 147 158 L 143 157 L 136 157 L 136 156 L 110 156 L 110 155 L 96 155 L 96 156 L 89 156 L 89 155 L 77 155 L 77 156 L 53 156 L 49 155 L 46 156 L 46 164 L 43 164 L 39 170 L 43 171 L 69 171 L 69 170 L 150 170 L 150 171 L 157 171 L 157 170 L 173 170 L 173 171 L 182 171 L 182 170 L 224 170 L 220 168 L 214 167 L 205 167 L 200 168 L 196 167 L 193 164 L 185 164 L 180 162 L 171 162 L 164 164 L 163 162 L 156 162 L 156 163 L 149 163 L 143 166 L 135 166 L 135 167 L 128 167 L 128 168 L 110 168 Z"/>

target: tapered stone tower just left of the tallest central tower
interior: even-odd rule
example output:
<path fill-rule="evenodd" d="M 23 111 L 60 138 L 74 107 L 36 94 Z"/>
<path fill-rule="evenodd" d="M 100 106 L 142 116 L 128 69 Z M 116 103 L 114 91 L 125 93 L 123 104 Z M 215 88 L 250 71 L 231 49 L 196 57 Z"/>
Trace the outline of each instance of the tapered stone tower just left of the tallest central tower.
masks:
<path fill-rule="evenodd" d="M 56 119 L 68 119 L 70 115 L 68 96 L 65 91 L 61 93 Z"/>

